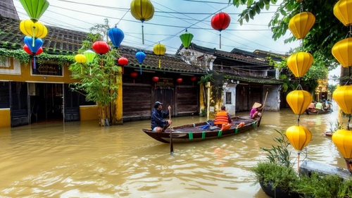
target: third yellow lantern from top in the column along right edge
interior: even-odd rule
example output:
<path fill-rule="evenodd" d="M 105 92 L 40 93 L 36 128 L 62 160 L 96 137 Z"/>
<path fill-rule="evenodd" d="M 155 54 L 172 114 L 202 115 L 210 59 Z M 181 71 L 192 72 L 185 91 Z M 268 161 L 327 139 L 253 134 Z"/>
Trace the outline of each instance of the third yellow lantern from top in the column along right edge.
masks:
<path fill-rule="evenodd" d="M 352 113 L 352 85 L 337 87 L 332 97 L 344 113 Z"/>

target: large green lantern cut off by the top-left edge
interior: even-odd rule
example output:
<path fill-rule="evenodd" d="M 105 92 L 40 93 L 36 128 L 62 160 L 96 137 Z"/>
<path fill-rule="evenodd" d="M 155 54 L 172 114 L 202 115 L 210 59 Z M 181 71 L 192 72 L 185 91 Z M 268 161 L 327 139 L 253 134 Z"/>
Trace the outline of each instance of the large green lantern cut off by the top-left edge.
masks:
<path fill-rule="evenodd" d="M 30 16 L 30 20 L 34 23 L 39 20 L 46 8 L 49 7 L 49 2 L 46 0 L 20 0 L 20 3 L 25 8 L 27 15 Z"/>

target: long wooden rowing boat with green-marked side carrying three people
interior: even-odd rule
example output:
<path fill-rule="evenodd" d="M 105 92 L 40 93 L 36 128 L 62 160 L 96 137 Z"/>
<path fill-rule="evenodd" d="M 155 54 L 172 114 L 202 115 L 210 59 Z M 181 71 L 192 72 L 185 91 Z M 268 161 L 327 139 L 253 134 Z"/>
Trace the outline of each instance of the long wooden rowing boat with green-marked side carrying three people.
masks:
<path fill-rule="evenodd" d="M 211 123 L 212 121 L 208 120 L 201 123 L 175 126 L 171 129 L 172 142 L 193 142 L 236 135 L 256 128 L 258 120 L 252 119 L 249 116 L 237 116 L 232 118 L 232 125 L 225 130 L 221 130 L 221 128 Z M 149 129 L 143 129 L 143 131 L 159 142 L 170 143 L 170 128 L 166 129 L 165 132 L 153 132 Z"/>

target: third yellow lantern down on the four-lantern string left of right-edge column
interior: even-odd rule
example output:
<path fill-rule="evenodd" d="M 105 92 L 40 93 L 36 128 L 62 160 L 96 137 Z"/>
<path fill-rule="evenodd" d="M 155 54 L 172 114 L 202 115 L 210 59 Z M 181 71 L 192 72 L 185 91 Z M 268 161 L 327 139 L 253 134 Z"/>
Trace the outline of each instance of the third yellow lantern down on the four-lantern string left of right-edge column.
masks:
<path fill-rule="evenodd" d="M 294 114 L 301 115 L 313 101 L 313 97 L 307 91 L 294 90 L 287 94 L 286 100 L 292 111 L 294 111 Z"/>

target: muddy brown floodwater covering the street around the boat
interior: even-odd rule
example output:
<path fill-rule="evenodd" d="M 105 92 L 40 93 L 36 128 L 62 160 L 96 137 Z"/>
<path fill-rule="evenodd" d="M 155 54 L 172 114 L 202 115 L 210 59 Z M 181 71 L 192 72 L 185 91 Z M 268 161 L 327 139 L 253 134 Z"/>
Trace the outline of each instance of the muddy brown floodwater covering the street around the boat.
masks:
<path fill-rule="evenodd" d="M 169 144 L 142 132 L 150 128 L 149 120 L 106 128 L 92 121 L 0 128 L 0 197 L 266 198 L 259 185 L 253 185 L 249 168 L 265 160 L 260 147 L 270 147 L 275 130 L 286 130 L 297 118 L 290 109 L 265 111 L 260 128 L 174 144 L 174 155 Z M 345 168 L 331 138 L 324 135 L 329 122 L 337 119 L 347 123 L 337 111 L 302 115 L 300 123 L 313 133 L 308 158 Z M 172 125 L 182 125 L 206 118 L 172 120 Z"/>

